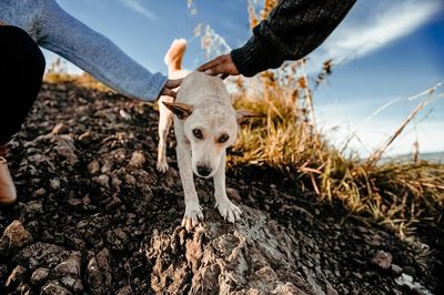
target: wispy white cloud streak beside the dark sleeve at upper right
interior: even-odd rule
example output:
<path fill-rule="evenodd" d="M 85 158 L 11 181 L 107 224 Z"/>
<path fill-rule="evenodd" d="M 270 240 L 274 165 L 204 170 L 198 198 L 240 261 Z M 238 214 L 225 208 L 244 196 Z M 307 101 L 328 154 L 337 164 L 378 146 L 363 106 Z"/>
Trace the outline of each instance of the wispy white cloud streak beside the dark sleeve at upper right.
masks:
<path fill-rule="evenodd" d="M 320 63 L 329 58 L 346 62 L 366 55 L 412 33 L 442 9 L 440 0 L 359 1 L 311 58 Z"/>

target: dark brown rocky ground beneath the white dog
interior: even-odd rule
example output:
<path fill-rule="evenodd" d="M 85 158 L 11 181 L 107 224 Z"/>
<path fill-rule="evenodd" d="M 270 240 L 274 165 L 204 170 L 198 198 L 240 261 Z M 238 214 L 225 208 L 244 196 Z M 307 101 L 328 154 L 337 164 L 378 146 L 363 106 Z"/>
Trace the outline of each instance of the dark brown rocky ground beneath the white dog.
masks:
<path fill-rule="evenodd" d="M 157 118 L 43 85 L 9 154 L 19 202 L 0 208 L 0 294 L 444 293 L 443 226 L 405 243 L 272 170 L 228 173 L 234 225 L 196 180 L 205 222 L 186 233 L 173 144 L 169 172 L 155 171 Z"/>

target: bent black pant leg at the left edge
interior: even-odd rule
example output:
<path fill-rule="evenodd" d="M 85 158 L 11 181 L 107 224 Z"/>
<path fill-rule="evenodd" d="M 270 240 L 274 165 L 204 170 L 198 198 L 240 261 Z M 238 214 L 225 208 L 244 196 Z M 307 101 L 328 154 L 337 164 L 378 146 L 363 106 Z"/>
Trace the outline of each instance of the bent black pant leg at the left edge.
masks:
<path fill-rule="evenodd" d="M 44 73 L 44 57 L 22 29 L 0 26 L 0 145 L 19 132 Z"/>

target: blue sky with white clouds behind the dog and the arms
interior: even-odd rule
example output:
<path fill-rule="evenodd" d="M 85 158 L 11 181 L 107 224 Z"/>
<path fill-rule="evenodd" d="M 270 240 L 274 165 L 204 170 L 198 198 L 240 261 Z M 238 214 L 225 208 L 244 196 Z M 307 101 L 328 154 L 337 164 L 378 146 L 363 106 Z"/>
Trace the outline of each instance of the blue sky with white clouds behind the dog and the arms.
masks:
<path fill-rule="evenodd" d="M 246 0 L 57 0 L 69 13 L 103 33 L 150 71 L 167 72 L 163 54 L 174 38 L 185 38 L 184 67 L 205 61 L 201 37 L 211 26 L 229 47 L 250 37 Z M 253 0 L 254 1 L 254 0 Z M 53 54 L 46 52 L 47 62 Z M 396 130 L 425 96 L 410 96 L 444 82 L 442 0 L 357 0 L 333 34 L 309 55 L 309 74 L 333 58 L 333 74 L 314 92 L 316 118 L 329 139 L 362 155 Z M 69 65 L 69 70 L 78 70 Z M 444 151 L 444 85 L 390 148 L 407 153 L 418 139 L 422 152 Z M 395 102 L 394 102 L 395 101 Z M 394 102 L 372 115 L 386 103 Z"/>

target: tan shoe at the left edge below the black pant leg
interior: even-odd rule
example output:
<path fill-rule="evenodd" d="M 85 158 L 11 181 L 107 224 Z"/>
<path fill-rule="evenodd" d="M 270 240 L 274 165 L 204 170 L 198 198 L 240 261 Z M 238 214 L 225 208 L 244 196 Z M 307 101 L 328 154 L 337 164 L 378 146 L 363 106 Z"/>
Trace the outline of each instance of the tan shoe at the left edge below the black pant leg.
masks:
<path fill-rule="evenodd" d="M 17 200 L 16 185 L 12 182 L 8 162 L 4 159 L 7 151 L 7 145 L 0 145 L 0 205 L 9 205 Z"/>

